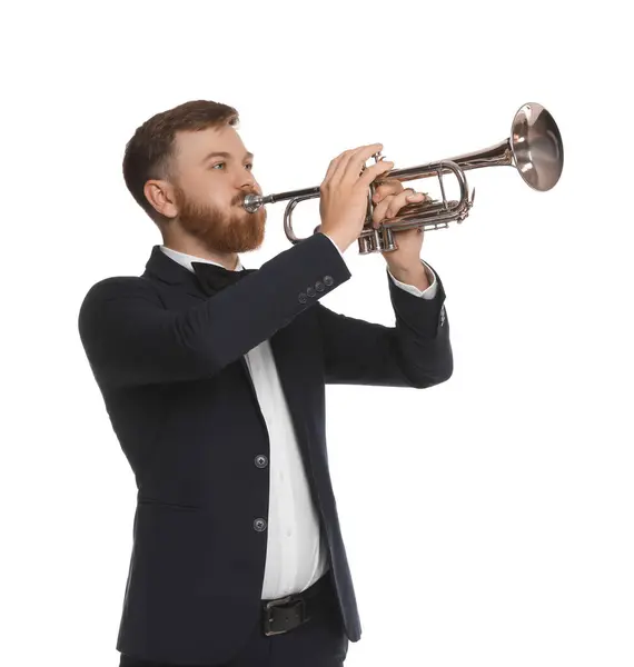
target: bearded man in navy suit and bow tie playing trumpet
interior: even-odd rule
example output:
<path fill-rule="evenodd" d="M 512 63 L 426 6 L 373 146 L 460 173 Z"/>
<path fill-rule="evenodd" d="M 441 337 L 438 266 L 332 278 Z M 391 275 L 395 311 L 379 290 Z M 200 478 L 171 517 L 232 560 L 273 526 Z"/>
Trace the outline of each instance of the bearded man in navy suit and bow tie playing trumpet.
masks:
<path fill-rule="evenodd" d="M 138 501 L 117 641 L 121 666 L 341 665 L 360 638 L 328 472 L 325 385 L 426 388 L 453 370 L 445 292 L 423 233 L 384 253 L 394 328 L 325 308 L 350 278 L 372 145 L 335 158 L 321 227 L 258 270 L 266 212 L 237 111 L 192 101 L 126 147 L 123 176 L 158 226 L 140 277 L 93 285 L 79 331 Z M 375 226 L 410 193 L 386 179 Z M 290 596 L 290 597 L 289 597 Z M 288 599 L 287 599 L 288 598 Z"/>

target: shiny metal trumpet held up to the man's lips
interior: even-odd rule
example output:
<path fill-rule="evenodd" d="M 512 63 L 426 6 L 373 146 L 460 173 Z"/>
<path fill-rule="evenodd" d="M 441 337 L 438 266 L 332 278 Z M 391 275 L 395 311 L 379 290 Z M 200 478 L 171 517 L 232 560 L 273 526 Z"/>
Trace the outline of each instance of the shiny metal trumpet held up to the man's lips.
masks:
<path fill-rule="evenodd" d="M 373 159 L 376 162 L 383 157 L 377 152 Z M 359 253 L 397 250 L 395 231 L 415 227 L 420 231 L 444 229 L 449 226 L 449 222 L 463 222 L 469 215 L 475 198 L 475 189 L 469 195 L 465 171 L 497 166 L 514 167 L 524 182 L 539 192 L 556 186 L 564 166 L 564 148 L 557 123 L 542 104 L 528 102 L 519 107 L 513 117 L 509 136 L 499 143 L 446 160 L 392 169 L 383 173 L 380 180 L 373 181 L 368 189 L 368 208 L 364 228 L 358 237 Z M 444 175 L 453 175 L 456 178 L 458 199 L 447 200 L 443 183 Z M 429 198 L 426 201 L 408 203 L 400 209 L 398 216 L 386 218 L 379 222 L 377 229 L 374 228 L 373 196 L 380 182 L 394 179 L 406 182 L 433 176 L 439 180 L 442 200 Z M 291 243 L 298 243 L 305 239 L 295 235 L 293 211 L 299 202 L 319 196 L 319 187 L 267 196 L 247 195 L 242 206 L 252 213 L 267 203 L 290 200 L 284 213 L 284 230 Z M 317 226 L 313 233 L 318 232 L 320 226 Z"/>

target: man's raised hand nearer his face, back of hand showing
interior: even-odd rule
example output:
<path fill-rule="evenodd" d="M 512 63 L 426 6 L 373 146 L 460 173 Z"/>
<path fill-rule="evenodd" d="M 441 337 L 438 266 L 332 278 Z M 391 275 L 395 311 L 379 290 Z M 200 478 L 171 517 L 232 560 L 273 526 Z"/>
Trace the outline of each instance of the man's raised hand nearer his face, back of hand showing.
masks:
<path fill-rule="evenodd" d="M 372 143 L 344 151 L 330 162 L 319 187 L 319 231 L 328 235 L 341 252 L 361 233 L 370 183 L 394 168 L 394 162 L 380 160 L 364 170 L 366 161 L 380 150 L 382 143 Z"/>

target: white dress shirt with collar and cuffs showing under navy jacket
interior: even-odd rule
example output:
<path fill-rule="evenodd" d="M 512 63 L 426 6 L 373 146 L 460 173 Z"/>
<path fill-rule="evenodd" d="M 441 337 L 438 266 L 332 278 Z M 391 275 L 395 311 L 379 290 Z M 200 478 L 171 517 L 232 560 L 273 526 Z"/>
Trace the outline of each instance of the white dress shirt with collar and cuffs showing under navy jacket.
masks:
<path fill-rule="evenodd" d="M 333 245 L 344 257 L 334 241 Z M 160 246 L 160 249 L 192 272 L 192 261 L 218 265 L 165 246 Z M 437 289 L 436 276 L 430 267 L 423 263 L 429 278 L 429 287 L 425 290 L 399 282 L 392 272 L 389 276 L 402 289 L 423 299 L 433 299 Z M 235 270 L 242 268 L 238 259 Z M 249 350 L 245 359 L 270 440 L 270 502 L 261 598 L 273 599 L 300 593 L 311 586 L 327 571 L 328 556 L 269 341 L 265 340 Z"/>

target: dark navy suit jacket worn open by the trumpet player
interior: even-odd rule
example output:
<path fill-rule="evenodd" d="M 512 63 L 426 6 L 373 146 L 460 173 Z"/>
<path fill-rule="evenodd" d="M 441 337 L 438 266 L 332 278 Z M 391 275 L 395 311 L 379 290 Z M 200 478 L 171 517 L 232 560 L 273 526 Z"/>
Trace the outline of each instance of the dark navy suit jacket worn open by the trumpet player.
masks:
<path fill-rule="evenodd" d="M 139 276 L 95 283 L 81 342 L 138 487 L 117 649 L 224 663 L 259 623 L 268 516 L 266 424 L 244 356 L 270 340 L 327 540 L 346 635 L 361 627 L 328 470 L 325 386 L 424 389 L 453 371 L 445 292 L 389 278 L 395 327 L 321 303 L 350 278 L 321 233 L 212 296 L 155 246 Z M 308 293 L 311 295 L 307 297 Z"/>

